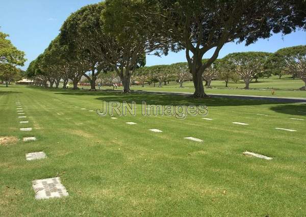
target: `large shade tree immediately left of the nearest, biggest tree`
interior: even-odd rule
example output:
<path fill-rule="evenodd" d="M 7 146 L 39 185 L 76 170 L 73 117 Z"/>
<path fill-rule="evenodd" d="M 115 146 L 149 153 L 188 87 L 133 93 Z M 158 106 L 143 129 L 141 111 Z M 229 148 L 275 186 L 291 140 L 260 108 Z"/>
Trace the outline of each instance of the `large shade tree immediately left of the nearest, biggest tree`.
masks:
<path fill-rule="evenodd" d="M 154 1 L 106 0 L 106 10 L 101 16 L 104 34 L 107 39 L 101 43 L 104 59 L 110 63 L 120 76 L 123 92 L 130 92 L 130 79 L 135 70 L 143 63 L 146 53 L 167 54 L 169 39 L 162 37 L 158 25 L 154 25 Z M 143 64 L 142 64 L 143 65 Z"/>

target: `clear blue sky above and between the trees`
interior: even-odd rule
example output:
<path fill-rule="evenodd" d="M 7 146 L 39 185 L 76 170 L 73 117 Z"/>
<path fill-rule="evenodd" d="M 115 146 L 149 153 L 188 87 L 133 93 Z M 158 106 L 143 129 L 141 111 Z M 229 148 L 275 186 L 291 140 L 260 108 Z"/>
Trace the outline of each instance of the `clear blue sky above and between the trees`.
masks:
<path fill-rule="evenodd" d="M 98 0 L 1 0 L 0 31 L 10 35 L 10 40 L 23 50 L 29 63 L 44 51 L 58 34 L 59 29 L 70 13 L 82 6 L 97 3 Z M 220 51 L 219 58 L 231 52 L 267 51 L 274 52 L 279 48 L 306 44 L 306 32 L 297 31 L 290 35 L 277 34 L 266 40 L 244 46 L 228 43 Z M 210 57 L 208 52 L 205 58 Z M 186 62 L 185 52 L 169 53 L 167 57 L 147 57 L 147 66 Z"/>

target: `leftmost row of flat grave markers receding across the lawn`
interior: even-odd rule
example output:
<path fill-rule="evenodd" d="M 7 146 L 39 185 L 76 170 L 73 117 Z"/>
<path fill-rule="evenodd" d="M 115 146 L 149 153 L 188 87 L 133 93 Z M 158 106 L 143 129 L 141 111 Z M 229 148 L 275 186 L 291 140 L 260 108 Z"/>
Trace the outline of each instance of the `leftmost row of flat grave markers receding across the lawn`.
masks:
<path fill-rule="evenodd" d="M 20 101 L 16 101 L 17 115 L 25 115 Z M 18 118 L 27 118 L 27 116 L 18 116 Z M 29 123 L 27 120 L 19 121 L 20 124 Z M 31 131 L 32 127 L 22 127 L 20 131 Z M 36 141 L 36 137 L 23 137 L 23 142 Z M 43 151 L 32 152 L 25 154 L 27 160 L 38 160 L 46 158 L 46 154 Z M 32 181 L 32 187 L 35 192 L 35 199 L 49 199 L 55 197 L 68 196 L 68 192 L 65 186 L 61 183 L 59 177 L 37 179 Z"/>

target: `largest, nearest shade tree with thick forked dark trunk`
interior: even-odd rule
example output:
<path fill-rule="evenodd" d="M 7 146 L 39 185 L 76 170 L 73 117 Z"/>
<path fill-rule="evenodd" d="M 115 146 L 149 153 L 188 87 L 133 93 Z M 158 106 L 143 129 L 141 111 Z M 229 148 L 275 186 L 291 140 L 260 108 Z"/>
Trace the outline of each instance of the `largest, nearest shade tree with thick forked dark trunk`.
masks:
<path fill-rule="evenodd" d="M 152 2 L 154 0 L 147 0 Z M 202 74 L 228 42 L 269 38 L 272 33 L 289 34 L 305 27 L 304 1 L 297 0 L 156 0 L 157 8 L 146 11 L 159 32 L 177 47 L 186 50 L 186 58 L 195 87 L 194 97 L 206 97 Z M 158 11 L 158 12 L 157 12 Z M 146 16 L 146 14 L 144 14 Z M 151 18 L 150 18 L 151 19 Z M 213 50 L 208 61 L 202 58 Z"/>

